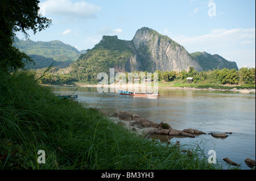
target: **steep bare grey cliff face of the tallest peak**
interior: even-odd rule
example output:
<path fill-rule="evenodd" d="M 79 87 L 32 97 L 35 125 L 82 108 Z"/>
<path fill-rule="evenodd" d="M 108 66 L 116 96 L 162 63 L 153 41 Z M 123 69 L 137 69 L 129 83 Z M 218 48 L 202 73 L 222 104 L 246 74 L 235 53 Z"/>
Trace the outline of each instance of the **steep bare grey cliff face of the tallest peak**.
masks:
<path fill-rule="evenodd" d="M 203 70 L 183 46 L 150 28 L 139 29 L 132 41 L 139 61 L 150 71 L 182 71 L 189 70 L 189 67 Z"/>

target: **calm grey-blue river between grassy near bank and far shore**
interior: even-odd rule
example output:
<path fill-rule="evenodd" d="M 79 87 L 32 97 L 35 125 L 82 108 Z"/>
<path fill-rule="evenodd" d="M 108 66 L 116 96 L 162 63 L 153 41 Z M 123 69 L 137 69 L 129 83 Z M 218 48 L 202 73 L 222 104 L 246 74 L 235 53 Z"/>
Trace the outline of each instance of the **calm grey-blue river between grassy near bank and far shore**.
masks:
<path fill-rule="evenodd" d="M 75 86 L 53 86 L 57 94 L 72 94 Z M 96 87 L 79 87 L 77 101 L 113 114 L 114 111 L 129 111 L 155 123 L 168 123 L 173 129 L 198 129 L 205 133 L 225 133 L 225 139 L 203 134 L 195 138 L 171 138 L 180 144 L 199 144 L 205 150 L 216 151 L 217 161 L 228 157 L 240 164 L 241 169 L 250 169 L 245 159 L 255 160 L 255 94 L 234 91 L 159 89 L 158 98 L 99 93 Z M 160 140 L 157 139 L 157 140 Z M 224 164 L 224 169 L 228 167 Z"/>

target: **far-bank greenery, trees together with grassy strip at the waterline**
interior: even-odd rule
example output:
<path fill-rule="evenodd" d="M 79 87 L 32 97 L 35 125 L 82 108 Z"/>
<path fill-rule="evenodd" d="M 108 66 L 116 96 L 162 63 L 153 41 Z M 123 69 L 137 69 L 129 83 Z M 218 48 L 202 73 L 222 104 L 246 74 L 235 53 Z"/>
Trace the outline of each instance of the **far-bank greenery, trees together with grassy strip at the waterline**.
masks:
<path fill-rule="evenodd" d="M 43 70 L 31 70 L 31 74 L 35 77 L 40 77 Z M 98 81 L 79 81 L 72 77 L 72 74 L 59 74 L 59 68 L 53 68 L 49 70 L 39 83 L 48 85 L 64 85 L 75 83 L 97 84 Z M 213 89 L 255 89 L 255 68 L 241 68 L 236 69 L 214 69 L 209 71 L 200 71 L 193 68 L 189 68 L 189 71 L 160 71 L 158 73 L 159 87 L 196 87 L 199 89 L 213 88 Z M 133 73 L 144 73 L 147 75 L 147 71 L 133 71 Z M 95 75 L 97 76 L 97 75 Z M 193 83 L 187 83 L 186 78 L 193 77 Z M 128 80 L 128 73 L 126 72 L 126 78 Z M 134 78 L 134 77 L 133 77 Z M 151 80 L 154 80 L 153 74 Z"/>

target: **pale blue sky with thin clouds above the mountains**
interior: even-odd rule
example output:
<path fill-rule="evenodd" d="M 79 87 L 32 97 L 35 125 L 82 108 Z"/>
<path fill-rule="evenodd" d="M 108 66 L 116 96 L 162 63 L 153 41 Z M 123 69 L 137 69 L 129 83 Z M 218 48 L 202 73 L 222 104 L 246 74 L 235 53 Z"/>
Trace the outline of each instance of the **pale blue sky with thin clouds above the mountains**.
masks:
<path fill-rule="evenodd" d="M 60 40 L 82 50 L 93 48 L 103 35 L 131 40 L 148 27 L 189 53 L 219 54 L 238 68 L 255 68 L 254 0 L 42 0 L 40 8 L 53 25 L 31 32 L 33 41 Z"/>

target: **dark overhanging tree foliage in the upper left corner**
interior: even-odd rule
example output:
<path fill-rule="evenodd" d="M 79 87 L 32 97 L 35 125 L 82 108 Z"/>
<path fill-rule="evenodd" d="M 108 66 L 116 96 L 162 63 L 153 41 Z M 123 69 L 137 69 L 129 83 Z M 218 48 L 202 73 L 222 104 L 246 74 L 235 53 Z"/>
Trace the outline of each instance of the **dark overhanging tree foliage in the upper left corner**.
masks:
<path fill-rule="evenodd" d="M 0 1 L 0 68 L 13 71 L 24 67 L 24 61 L 31 62 L 26 53 L 13 46 L 15 32 L 27 31 L 34 34 L 51 25 L 51 20 L 39 14 L 37 0 L 1 0 Z"/>

